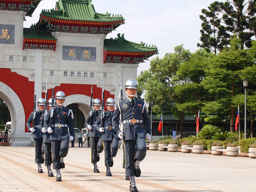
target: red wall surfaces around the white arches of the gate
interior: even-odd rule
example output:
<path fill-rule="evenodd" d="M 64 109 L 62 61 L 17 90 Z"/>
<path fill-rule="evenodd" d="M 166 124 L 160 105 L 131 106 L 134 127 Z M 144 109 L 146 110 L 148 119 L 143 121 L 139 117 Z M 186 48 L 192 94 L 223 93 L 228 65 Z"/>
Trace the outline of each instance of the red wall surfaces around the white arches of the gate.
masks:
<path fill-rule="evenodd" d="M 0 81 L 7 84 L 18 95 L 25 110 L 25 121 L 29 118 L 30 113 L 34 108 L 34 82 L 29 81 L 27 77 L 18 75 L 16 72 L 11 72 L 11 69 L 0 68 Z M 0 90 L 1 91 L 1 90 Z M 44 90 L 45 91 L 45 90 Z M 63 91 L 65 96 L 82 94 L 91 97 L 91 84 L 64 84 L 54 88 L 54 98 L 57 91 Z M 52 97 L 52 88 L 47 91 L 48 99 Z M 112 97 L 109 91 L 104 91 L 105 101 Z M 93 98 L 101 100 L 102 89 L 93 85 Z M 45 93 L 42 93 L 42 98 L 45 98 Z M 38 100 L 39 98 L 37 98 Z M 65 103 L 64 103 L 65 104 Z M 90 103 L 88 103 L 90 105 Z M 25 125 L 25 132 L 29 132 Z"/>

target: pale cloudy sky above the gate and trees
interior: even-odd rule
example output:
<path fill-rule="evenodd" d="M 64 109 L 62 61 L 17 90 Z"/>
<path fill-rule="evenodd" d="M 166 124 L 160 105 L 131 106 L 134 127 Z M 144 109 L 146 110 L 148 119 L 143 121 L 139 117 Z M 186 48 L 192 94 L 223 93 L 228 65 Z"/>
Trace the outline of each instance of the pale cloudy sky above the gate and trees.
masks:
<path fill-rule="evenodd" d="M 148 45 L 156 45 L 159 54 L 149 57 L 163 58 L 165 53 L 173 53 L 174 47 L 184 44 L 185 49 L 195 52 L 196 44 L 201 43 L 200 29 L 202 21 L 201 10 L 215 0 L 92 0 L 95 11 L 105 14 L 121 14 L 125 24 L 117 27 L 106 38 L 116 38 L 124 34 L 128 41 Z M 24 27 L 37 23 L 42 9 L 50 10 L 55 7 L 56 0 L 42 0 L 32 17 L 26 17 Z M 140 63 L 137 74 L 147 70 L 150 61 Z"/>

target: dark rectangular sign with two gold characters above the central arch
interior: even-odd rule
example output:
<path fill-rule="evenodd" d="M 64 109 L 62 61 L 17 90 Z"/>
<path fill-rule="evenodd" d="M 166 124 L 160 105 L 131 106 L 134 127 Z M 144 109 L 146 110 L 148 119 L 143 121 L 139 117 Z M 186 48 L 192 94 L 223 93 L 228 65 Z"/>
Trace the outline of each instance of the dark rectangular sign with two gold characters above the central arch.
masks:
<path fill-rule="evenodd" d="M 96 61 L 95 47 L 63 46 L 62 60 Z"/>

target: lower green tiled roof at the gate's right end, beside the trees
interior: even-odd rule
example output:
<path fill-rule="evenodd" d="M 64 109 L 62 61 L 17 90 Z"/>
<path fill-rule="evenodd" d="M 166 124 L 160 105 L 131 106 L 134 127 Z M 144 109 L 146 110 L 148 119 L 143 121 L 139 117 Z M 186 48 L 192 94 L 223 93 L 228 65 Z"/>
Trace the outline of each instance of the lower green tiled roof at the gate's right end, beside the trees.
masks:
<path fill-rule="evenodd" d="M 147 57 L 150 57 L 153 54 L 158 54 L 158 49 L 155 45 L 145 46 L 145 43 L 143 42 L 138 44 L 135 42 L 127 41 L 124 38 L 124 34 L 120 36 L 120 33 L 117 36 L 118 38 L 115 39 L 105 39 L 103 49 L 107 52 L 144 53 Z"/>

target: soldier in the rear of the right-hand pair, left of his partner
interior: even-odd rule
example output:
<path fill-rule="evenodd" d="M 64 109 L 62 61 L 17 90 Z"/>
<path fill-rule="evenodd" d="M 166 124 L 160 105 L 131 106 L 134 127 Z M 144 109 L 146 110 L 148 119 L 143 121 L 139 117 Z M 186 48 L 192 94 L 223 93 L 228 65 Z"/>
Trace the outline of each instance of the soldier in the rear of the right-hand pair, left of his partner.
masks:
<path fill-rule="evenodd" d="M 97 166 L 97 162 L 99 161 L 99 154 L 103 151 L 103 143 L 101 140 L 101 132 L 97 131 L 95 127 L 95 122 L 101 113 L 99 110 L 101 106 L 101 101 L 99 99 L 94 99 L 93 107 L 94 112 L 93 116 L 90 117 L 90 112 L 88 113 L 88 117 L 86 120 L 86 126 L 90 130 L 90 140 L 91 140 L 91 163 L 94 165 L 93 172 L 99 173 L 99 169 Z M 88 139 L 88 138 L 87 138 Z"/>

